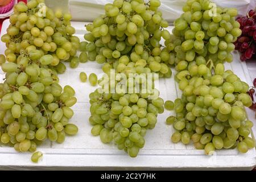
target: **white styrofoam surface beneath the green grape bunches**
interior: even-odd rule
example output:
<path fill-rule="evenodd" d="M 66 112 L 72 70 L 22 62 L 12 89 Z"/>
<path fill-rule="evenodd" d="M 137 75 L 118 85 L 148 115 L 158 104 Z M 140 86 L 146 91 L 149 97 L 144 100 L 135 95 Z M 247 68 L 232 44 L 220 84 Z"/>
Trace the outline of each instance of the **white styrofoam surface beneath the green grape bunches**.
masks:
<path fill-rule="evenodd" d="M 76 35 L 84 40 L 85 22 L 72 22 L 76 28 Z M 3 23 L 2 34 L 9 26 L 8 20 Z M 172 27 L 168 29 L 171 30 Z M 5 45 L 0 42 L 0 53 L 4 53 Z M 245 64 L 239 61 L 237 53 L 232 64 L 226 64 L 226 69 L 232 69 L 243 81 L 251 85 L 249 73 Z M 88 76 L 94 72 L 102 73 L 101 65 L 88 61 L 80 64 L 78 68 L 72 69 L 67 66 L 67 71 L 59 75 L 61 85 L 71 85 L 76 90 L 77 104 L 73 106 L 75 114 L 71 119 L 79 127 L 79 133 L 75 137 L 67 137 L 63 144 L 46 142 L 38 148 L 44 152 L 42 162 L 34 164 L 30 161 L 30 153 L 17 153 L 13 148 L 0 147 L 0 166 L 3 169 L 199 169 L 199 168 L 225 168 L 225 169 L 252 169 L 256 166 L 256 152 L 250 150 L 247 154 L 239 154 L 237 150 L 217 151 L 213 156 L 205 156 L 203 150 L 195 150 L 193 145 L 184 146 L 181 143 L 174 144 L 170 140 L 174 132 L 172 126 L 167 126 L 166 118 L 174 114 L 174 111 L 164 111 L 159 114 L 158 123 L 154 130 L 148 130 L 146 144 L 137 158 L 130 158 L 124 151 L 119 151 L 114 144 L 103 144 L 99 137 L 90 134 L 88 118 L 89 93 L 96 87 L 90 86 L 89 82 L 82 83 L 79 73 L 83 71 Z M 173 70 L 174 71 L 174 70 Z M 1 72 L 1 77 L 4 77 Z M 0 77 L 0 78 L 1 78 Z M 177 89 L 174 76 L 168 79 L 160 79 L 160 97 L 164 100 L 175 100 L 181 96 Z M 253 112 L 248 110 L 249 118 L 255 122 Z M 256 126 L 253 128 L 256 131 Z M 255 132 L 254 132 L 255 133 Z"/>

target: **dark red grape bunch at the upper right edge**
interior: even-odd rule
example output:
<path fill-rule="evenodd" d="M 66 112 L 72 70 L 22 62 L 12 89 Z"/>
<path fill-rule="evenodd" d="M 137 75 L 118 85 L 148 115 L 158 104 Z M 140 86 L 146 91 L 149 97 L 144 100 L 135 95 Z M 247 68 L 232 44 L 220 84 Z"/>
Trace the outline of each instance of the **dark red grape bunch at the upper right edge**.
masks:
<path fill-rule="evenodd" d="M 251 59 L 256 52 L 256 11 L 250 10 L 246 16 L 237 16 L 242 35 L 237 39 L 236 50 L 241 52 L 241 61 Z"/>

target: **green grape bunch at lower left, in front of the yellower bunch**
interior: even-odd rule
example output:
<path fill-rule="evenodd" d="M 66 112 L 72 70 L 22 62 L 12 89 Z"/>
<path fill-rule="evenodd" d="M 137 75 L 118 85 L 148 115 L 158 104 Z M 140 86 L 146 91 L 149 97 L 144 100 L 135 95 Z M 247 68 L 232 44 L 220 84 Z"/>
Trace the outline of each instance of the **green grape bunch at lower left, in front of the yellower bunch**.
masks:
<path fill-rule="evenodd" d="M 36 144 L 47 138 L 62 143 L 66 134 L 78 131 L 68 123 L 73 116 L 70 107 L 76 103 L 75 91 L 57 84 L 56 72 L 47 66 L 52 56 L 44 55 L 38 62 L 30 59 L 2 64 L 6 78 L 0 84 L 1 143 L 19 152 L 34 152 Z"/>

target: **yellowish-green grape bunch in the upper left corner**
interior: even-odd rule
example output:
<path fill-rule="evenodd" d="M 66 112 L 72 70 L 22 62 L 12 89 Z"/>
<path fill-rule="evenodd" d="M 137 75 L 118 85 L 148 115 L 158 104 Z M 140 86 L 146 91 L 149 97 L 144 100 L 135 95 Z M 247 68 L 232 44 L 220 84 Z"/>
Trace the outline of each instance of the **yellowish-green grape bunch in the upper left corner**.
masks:
<path fill-rule="evenodd" d="M 80 48 L 80 40 L 75 34 L 75 28 L 69 22 L 70 14 L 55 13 L 43 4 L 44 0 L 31 0 L 25 5 L 19 2 L 14 6 L 14 14 L 10 16 L 10 26 L 7 34 L 1 40 L 6 43 L 6 59 L 18 63 L 23 56 L 32 51 L 40 51 L 41 55 L 52 55 L 53 61 L 49 65 L 57 72 L 65 72 L 65 65 L 60 61 L 71 62 L 76 68 L 79 59 L 76 57 Z M 40 7 L 44 5 L 46 14 L 40 14 Z M 44 12 L 43 12 L 44 13 Z"/>

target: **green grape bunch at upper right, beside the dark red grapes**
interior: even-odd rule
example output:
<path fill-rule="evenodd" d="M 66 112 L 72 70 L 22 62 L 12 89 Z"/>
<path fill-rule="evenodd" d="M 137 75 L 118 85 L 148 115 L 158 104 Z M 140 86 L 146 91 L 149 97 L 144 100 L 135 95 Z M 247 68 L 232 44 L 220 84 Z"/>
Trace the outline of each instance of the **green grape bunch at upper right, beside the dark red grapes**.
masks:
<path fill-rule="evenodd" d="M 222 9 L 209 0 L 188 0 L 183 11 L 174 22 L 171 39 L 165 43 L 172 50 L 170 63 L 196 61 L 199 65 L 209 59 L 214 64 L 233 61 L 233 43 L 242 34 L 235 19 L 237 9 Z"/>

